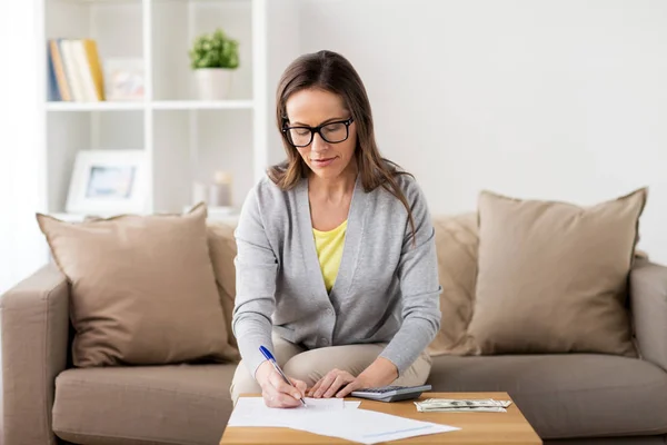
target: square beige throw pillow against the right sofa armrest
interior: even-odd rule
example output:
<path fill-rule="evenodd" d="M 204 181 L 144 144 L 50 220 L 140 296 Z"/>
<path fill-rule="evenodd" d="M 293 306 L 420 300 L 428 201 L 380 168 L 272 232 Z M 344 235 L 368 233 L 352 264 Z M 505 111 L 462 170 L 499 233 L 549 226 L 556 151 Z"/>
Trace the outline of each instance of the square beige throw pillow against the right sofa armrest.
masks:
<path fill-rule="evenodd" d="M 482 191 L 468 327 L 480 353 L 637 356 L 625 304 L 646 196 L 579 207 Z"/>

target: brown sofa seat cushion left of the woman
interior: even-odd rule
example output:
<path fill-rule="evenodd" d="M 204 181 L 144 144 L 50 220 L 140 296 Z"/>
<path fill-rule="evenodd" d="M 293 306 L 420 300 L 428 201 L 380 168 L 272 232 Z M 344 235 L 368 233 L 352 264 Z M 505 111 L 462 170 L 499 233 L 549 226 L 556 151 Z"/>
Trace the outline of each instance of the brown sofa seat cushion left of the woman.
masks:
<path fill-rule="evenodd" d="M 217 444 L 236 365 L 67 369 L 56 378 L 53 432 L 89 445 Z"/>

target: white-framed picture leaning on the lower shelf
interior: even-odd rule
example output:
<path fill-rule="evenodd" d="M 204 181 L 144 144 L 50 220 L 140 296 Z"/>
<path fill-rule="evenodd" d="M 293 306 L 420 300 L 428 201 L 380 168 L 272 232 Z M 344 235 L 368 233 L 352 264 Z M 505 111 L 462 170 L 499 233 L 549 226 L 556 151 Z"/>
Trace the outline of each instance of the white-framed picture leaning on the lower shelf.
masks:
<path fill-rule="evenodd" d="M 143 150 L 81 150 L 77 154 L 66 209 L 113 216 L 147 209 Z"/>

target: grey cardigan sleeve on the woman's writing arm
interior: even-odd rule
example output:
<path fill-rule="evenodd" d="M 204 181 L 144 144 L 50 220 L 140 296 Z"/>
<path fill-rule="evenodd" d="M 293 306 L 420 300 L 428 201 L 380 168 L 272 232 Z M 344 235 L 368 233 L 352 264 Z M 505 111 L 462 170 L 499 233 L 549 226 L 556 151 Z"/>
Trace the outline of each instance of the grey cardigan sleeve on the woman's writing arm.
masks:
<path fill-rule="evenodd" d="M 276 308 L 278 260 L 262 221 L 257 187 L 246 198 L 235 230 L 237 295 L 232 329 L 250 375 L 266 359 L 260 346 L 273 353 L 271 316 Z"/>

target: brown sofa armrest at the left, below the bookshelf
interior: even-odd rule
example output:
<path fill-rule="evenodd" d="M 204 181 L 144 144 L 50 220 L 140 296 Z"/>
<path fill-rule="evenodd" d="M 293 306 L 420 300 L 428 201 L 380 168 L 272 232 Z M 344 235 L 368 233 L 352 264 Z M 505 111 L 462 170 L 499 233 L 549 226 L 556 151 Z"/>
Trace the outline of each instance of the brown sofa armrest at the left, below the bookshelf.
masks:
<path fill-rule="evenodd" d="M 8 445 L 56 444 L 54 380 L 67 366 L 69 286 L 47 265 L 0 299 L 3 436 Z"/>

